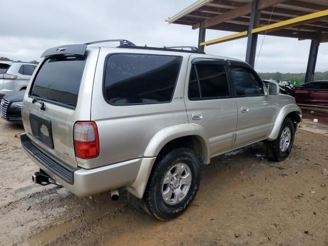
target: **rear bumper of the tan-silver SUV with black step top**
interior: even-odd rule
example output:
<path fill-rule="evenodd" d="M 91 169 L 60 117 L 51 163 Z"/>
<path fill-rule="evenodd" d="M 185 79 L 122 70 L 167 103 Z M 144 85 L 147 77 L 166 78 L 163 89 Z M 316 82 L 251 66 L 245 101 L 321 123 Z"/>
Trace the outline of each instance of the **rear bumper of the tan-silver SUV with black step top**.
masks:
<path fill-rule="evenodd" d="M 94 169 L 70 168 L 54 156 L 37 148 L 20 135 L 22 146 L 30 159 L 51 178 L 78 196 L 89 196 L 119 187 L 130 186 L 137 179 L 142 158 Z"/>

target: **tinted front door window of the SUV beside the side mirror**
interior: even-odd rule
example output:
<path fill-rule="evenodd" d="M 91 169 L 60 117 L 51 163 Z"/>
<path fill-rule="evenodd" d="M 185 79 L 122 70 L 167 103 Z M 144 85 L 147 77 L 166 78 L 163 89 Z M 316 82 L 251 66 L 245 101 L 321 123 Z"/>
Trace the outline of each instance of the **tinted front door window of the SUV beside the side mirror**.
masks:
<path fill-rule="evenodd" d="M 231 67 L 236 96 L 264 95 L 263 84 L 253 71 L 242 67 Z"/>

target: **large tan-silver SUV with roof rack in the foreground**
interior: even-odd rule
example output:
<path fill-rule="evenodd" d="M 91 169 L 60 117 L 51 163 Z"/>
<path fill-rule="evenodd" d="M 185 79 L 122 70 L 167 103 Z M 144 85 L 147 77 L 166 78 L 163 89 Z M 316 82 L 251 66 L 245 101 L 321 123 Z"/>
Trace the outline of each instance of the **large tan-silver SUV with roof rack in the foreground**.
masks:
<path fill-rule="evenodd" d="M 20 136 L 35 183 L 78 196 L 127 187 L 167 220 L 195 197 L 199 166 L 264 142 L 291 152 L 301 110 L 243 61 L 119 40 L 46 50 L 23 101 Z"/>

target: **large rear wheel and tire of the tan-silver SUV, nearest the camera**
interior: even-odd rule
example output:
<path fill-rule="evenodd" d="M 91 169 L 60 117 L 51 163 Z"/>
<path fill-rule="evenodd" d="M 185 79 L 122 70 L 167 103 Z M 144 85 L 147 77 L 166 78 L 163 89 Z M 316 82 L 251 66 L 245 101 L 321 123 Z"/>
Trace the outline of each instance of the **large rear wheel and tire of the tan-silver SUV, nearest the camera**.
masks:
<path fill-rule="evenodd" d="M 196 196 L 200 162 L 188 148 L 178 148 L 155 162 L 145 193 L 147 212 L 160 220 L 179 216 Z"/>

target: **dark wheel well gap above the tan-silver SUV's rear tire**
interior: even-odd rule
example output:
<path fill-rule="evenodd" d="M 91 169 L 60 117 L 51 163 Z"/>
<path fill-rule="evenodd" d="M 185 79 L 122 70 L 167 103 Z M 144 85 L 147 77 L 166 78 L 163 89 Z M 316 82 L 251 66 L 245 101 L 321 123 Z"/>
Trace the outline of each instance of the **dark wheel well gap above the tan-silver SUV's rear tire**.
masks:
<path fill-rule="evenodd" d="M 160 158 L 160 156 L 164 155 L 165 153 L 177 149 L 177 148 L 189 148 L 193 150 L 197 156 L 197 158 L 200 160 L 201 163 L 204 163 L 204 160 L 206 160 L 206 152 L 203 150 L 202 147 L 202 139 L 200 137 L 192 135 L 192 136 L 184 136 L 175 138 L 171 141 L 169 141 L 158 153 L 157 158 Z M 207 163 L 206 163 L 207 164 Z"/>

